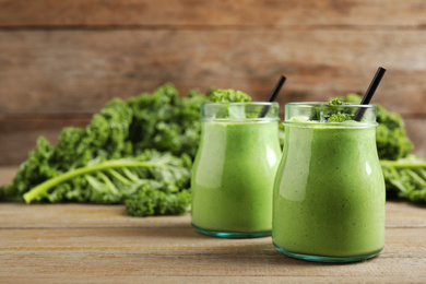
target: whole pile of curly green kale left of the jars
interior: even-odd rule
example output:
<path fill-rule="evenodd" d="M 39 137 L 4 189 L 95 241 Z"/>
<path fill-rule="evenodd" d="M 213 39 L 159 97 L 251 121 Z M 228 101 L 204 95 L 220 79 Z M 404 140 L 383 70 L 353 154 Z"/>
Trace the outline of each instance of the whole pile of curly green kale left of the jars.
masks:
<path fill-rule="evenodd" d="M 179 98 L 173 85 L 114 99 L 85 129 L 62 129 L 56 146 L 39 138 L 0 200 L 126 203 L 139 216 L 187 212 L 204 102 L 198 91 Z"/>

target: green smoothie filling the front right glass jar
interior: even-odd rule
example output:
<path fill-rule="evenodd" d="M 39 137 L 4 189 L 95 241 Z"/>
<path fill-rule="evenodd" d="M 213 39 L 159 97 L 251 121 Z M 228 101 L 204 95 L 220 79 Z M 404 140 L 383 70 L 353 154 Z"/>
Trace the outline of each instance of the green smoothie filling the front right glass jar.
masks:
<path fill-rule="evenodd" d="M 382 249 L 384 182 L 376 128 L 352 122 L 285 123 L 272 233 L 281 252 L 351 261 Z"/>

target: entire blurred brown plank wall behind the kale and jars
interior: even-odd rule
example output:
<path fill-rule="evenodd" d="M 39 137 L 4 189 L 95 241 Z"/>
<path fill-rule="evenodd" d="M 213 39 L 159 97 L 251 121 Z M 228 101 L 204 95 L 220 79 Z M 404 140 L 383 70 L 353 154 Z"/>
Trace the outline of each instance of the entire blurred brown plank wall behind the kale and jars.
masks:
<path fill-rule="evenodd" d="M 363 94 L 379 66 L 375 103 L 426 156 L 425 0 L 0 0 L 0 165 L 167 82 L 262 100 L 284 74 L 284 104 Z"/>

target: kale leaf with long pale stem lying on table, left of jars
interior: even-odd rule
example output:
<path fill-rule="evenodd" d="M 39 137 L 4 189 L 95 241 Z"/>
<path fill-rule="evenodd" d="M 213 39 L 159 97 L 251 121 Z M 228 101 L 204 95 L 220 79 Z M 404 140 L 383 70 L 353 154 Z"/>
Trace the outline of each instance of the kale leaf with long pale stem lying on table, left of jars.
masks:
<path fill-rule="evenodd" d="M 187 210 L 190 199 L 180 192 L 189 187 L 190 166 L 191 161 L 187 155 L 175 157 L 149 150 L 133 158 L 92 161 L 84 167 L 39 184 L 24 194 L 24 200 L 27 203 L 78 201 L 109 204 L 139 200 L 150 192 L 145 203 L 155 201 L 153 206 L 157 208 L 152 214 L 170 214 L 174 210 L 184 213 L 181 204 L 187 202 Z M 187 199 L 182 200 L 184 197 Z M 167 209 L 163 209 L 163 204 Z M 132 208 L 135 208 L 135 203 Z"/>

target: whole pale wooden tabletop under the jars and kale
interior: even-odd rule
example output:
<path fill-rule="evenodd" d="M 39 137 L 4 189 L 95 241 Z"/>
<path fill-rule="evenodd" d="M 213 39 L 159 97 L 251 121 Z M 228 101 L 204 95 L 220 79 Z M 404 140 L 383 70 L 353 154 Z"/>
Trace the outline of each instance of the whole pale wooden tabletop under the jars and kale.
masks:
<path fill-rule="evenodd" d="M 0 169 L 0 184 L 13 170 Z M 122 205 L 0 203 L 1 283 L 425 283 L 426 208 L 387 202 L 386 246 L 369 261 L 288 258 L 271 237 L 196 233 L 190 215 L 130 217 Z"/>

